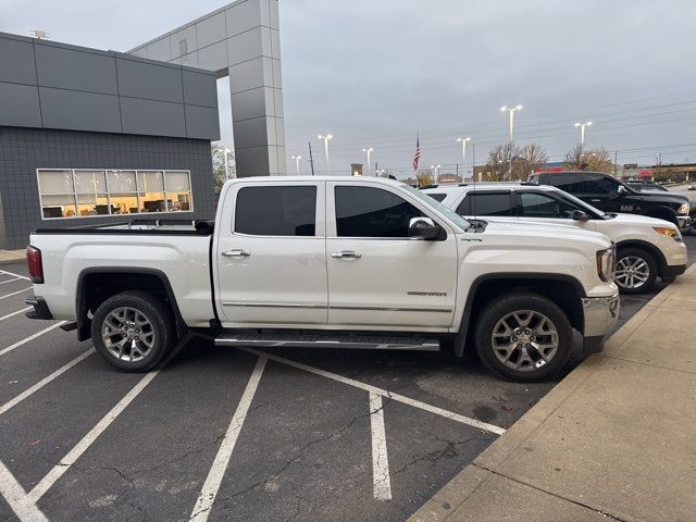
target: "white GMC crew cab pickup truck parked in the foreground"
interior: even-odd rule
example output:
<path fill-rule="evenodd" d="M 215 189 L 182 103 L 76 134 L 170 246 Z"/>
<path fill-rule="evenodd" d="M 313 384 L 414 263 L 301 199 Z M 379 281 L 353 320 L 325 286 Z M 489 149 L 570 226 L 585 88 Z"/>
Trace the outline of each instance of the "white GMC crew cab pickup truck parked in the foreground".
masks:
<path fill-rule="evenodd" d="M 126 371 L 204 330 L 221 346 L 474 349 L 536 381 L 567 364 L 572 328 L 596 352 L 619 313 L 601 234 L 474 227 L 388 179 L 235 179 L 214 225 L 192 225 L 36 231 L 27 315 L 71 321 Z"/>

